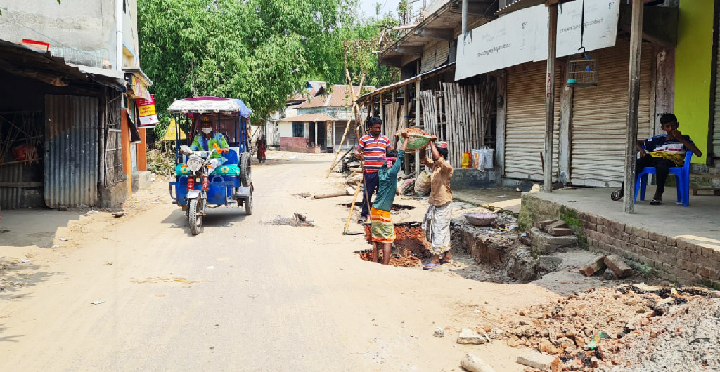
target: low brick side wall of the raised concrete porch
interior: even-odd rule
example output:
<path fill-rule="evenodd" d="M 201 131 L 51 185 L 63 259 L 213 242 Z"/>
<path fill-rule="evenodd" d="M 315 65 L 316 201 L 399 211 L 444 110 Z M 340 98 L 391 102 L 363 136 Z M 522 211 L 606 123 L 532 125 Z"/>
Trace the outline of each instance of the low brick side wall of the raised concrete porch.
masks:
<path fill-rule="evenodd" d="M 591 251 L 617 254 L 645 264 L 670 282 L 720 289 L 719 250 L 590 213 L 579 212 L 578 218 Z"/>

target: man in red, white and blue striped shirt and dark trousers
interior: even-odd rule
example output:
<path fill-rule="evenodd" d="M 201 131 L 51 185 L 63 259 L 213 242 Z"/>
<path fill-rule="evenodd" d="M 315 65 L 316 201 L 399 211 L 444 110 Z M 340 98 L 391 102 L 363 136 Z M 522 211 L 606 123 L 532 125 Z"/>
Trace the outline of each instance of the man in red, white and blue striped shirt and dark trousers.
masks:
<path fill-rule="evenodd" d="M 363 174 L 363 197 L 362 212 L 358 223 L 366 223 L 370 215 L 370 203 L 372 203 L 372 195 L 377 191 L 379 182 L 378 171 L 385 162 L 385 154 L 387 150 L 392 149 L 390 140 L 387 136 L 380 134 L 382 120 L 377 116 L 371 116 L 368 121 L 369 134 L 362 136 L 355 148 L 355 157 L 364 159 L 365 169 Z"/>

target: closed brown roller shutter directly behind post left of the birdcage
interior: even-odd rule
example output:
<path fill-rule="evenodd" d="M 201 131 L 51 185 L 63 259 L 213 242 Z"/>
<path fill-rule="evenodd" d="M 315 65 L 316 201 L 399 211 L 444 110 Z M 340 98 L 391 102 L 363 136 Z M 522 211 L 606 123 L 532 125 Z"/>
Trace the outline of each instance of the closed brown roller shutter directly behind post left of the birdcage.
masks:
<path fill-rule="evenodd" d="M 546 62 L 526 63 L 507 69 L 505 177 L 537 181 L 543 179 L 540 154 L 545 150 L 546 69 Z M 556 68 L 553 180 L 557 178 L 558 169 L 561 80 L 561 70 Z"/>

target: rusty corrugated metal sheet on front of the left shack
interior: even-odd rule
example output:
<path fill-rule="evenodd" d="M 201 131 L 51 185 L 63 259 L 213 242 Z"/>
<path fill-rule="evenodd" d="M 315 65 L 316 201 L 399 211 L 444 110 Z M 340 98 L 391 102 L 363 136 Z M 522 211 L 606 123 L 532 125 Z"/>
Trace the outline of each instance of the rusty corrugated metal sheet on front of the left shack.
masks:
<path fill-rule="evenodd" d="M 94 205 L 98 182 L 98 100 L 45 96 L 45 204 Z"/>

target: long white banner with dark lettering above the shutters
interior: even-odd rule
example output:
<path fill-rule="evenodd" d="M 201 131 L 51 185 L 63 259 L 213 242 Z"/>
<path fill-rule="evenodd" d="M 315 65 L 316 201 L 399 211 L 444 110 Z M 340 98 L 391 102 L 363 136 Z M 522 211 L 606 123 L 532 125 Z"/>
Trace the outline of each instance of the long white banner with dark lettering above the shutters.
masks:
<path fill-rule="evenodd" d="M 618 0 L 585 0 L 584 32 L 582 1 L 559 6 L 557 57 L 615 45 Z M 458 37 L 455 80 L 531 61 L 547 59 L 548 14 L 544 5 L 514 11 Z"/>

